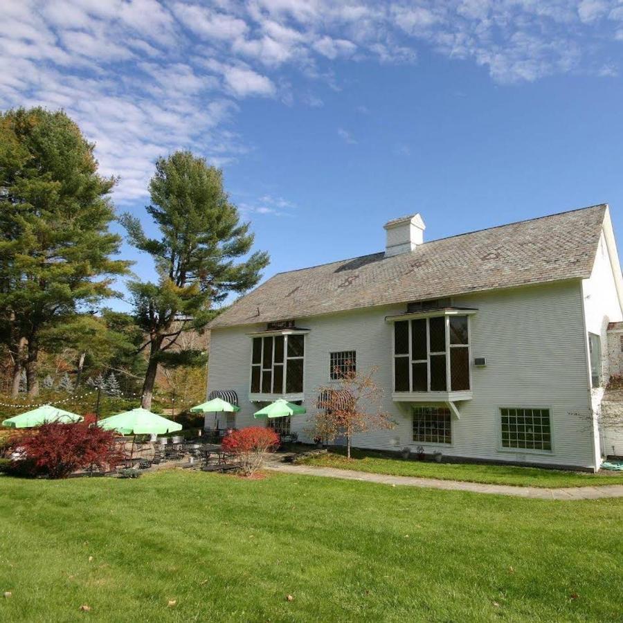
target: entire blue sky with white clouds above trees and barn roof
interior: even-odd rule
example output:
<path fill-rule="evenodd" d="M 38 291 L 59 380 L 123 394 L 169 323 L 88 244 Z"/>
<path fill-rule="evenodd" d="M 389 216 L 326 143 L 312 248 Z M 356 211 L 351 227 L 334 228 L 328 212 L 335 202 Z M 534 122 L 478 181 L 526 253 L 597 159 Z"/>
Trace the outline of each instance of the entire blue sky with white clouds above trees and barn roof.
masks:
<path fill-rule="evenodd" d="M 415 212 L 433 240 L 607 201 L 623 232 L 622 50 L 613 0 L 5 0 L 0 108 L 66 109 L 141 217 L 157 156 L 222 166 L 269 277 Z"/>

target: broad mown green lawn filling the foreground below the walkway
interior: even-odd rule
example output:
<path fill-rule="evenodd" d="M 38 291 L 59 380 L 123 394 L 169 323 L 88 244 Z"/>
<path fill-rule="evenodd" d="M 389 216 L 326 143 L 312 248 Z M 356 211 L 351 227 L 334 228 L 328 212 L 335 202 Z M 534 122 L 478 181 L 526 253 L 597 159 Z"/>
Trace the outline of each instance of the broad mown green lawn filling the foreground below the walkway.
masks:
<path fill-rule="evenodd" d="M 621 620 L 622 498 L 181 470 L 0 498 L 13 623 Z"/>

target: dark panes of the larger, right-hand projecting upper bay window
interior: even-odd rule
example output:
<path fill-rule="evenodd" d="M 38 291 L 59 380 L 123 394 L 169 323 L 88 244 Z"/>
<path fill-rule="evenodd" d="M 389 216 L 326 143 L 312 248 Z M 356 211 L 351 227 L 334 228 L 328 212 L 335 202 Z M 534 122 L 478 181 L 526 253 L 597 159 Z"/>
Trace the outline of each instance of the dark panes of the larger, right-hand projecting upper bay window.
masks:
<path fill-rule="evenodd" d="M 394 391 L 469 390 L 467 316 L 394 323 Z"/>

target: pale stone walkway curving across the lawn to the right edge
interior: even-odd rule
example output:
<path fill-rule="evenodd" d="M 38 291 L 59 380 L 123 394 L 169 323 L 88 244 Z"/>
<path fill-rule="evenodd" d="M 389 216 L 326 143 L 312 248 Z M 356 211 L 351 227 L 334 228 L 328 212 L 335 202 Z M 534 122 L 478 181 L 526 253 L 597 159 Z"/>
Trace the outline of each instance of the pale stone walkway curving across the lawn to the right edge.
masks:
<path fill-rule="evenodd" d="M 564 489 L 543 489 L 541 487 L 513 487 L 512 485 L 482 485 L 478 482 L 459 482 L 458 480 L 437 480 L 436 478 L 415 478 L 414 476 L 388 476 L 383 473 L 365 473 L 334 467 L 311 467 L 291 463 L 270 462 L 266 469 L 301 476 L 325 476 L 363 482 L 379 482 L 382 485 L 406 487 L 425 487 L 427 489 L 446 489 L 446 491 L 471 491 L 472 493 L 515 496 L 517 498 L 536 498 L 540 500 L 597 500 L 599 498 L 623 497 L 623 485 L 599 485 L 598 487 L 568 487 Z"/>

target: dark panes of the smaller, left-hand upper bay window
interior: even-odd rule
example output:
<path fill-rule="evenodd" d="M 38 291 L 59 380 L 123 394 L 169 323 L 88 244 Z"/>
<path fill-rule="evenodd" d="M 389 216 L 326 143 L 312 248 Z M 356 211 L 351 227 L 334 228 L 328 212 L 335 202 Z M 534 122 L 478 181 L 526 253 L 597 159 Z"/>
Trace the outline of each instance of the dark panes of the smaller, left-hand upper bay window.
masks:
<path fill-rule="evenodd" d="M 251 393 L 302 392 L 304 356 L 305 336 L 302 334 L 253 338 Z"/>

